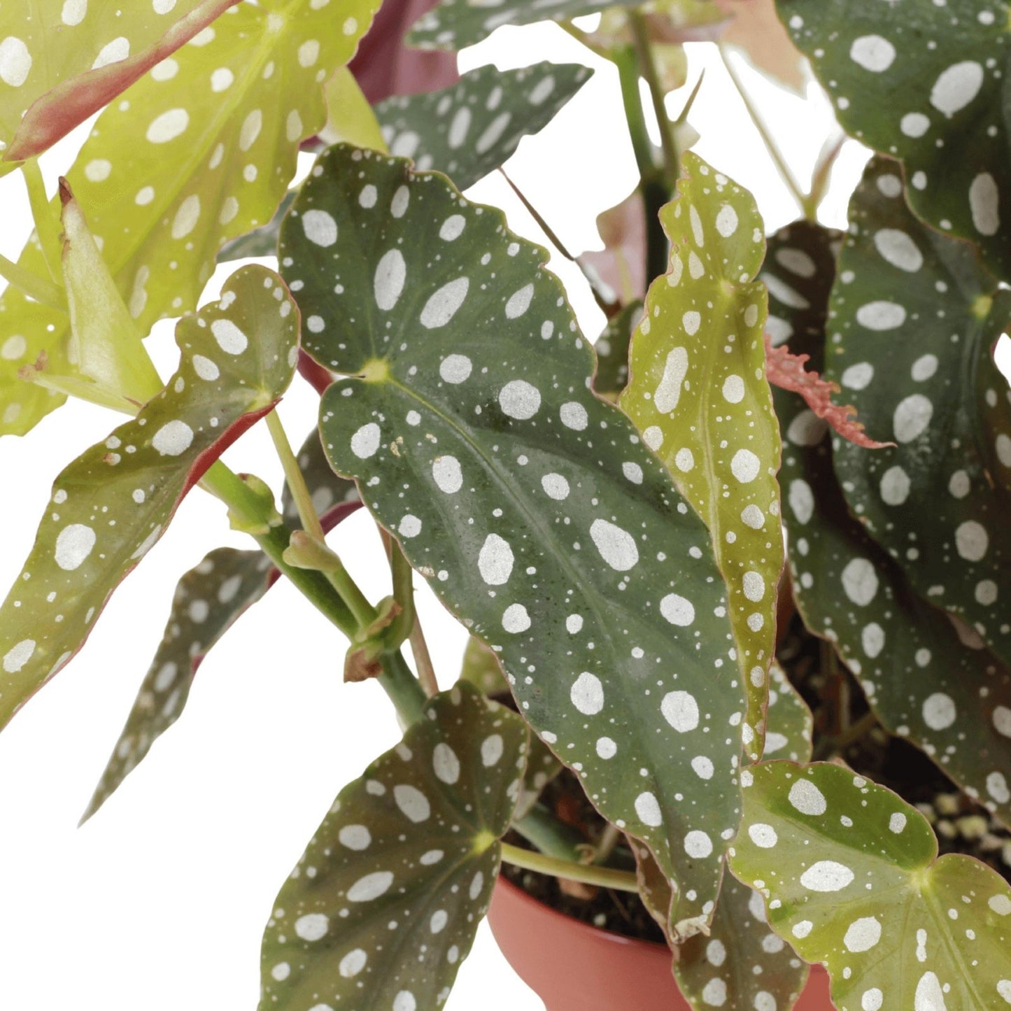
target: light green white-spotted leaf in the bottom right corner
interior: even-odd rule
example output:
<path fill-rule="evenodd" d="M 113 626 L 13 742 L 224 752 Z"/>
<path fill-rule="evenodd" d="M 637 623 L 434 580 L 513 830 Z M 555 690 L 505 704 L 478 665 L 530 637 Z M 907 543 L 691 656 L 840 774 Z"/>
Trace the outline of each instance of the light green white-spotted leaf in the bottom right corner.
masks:
<path fill-rule="evenodd" d="M 849 769 L 750 770 L 734 874 L 769 925 L 824 962 L 840 1011 L 998 1011 L 1011 995 L 1011 888 L 948 854 L 916 808 Z"/>

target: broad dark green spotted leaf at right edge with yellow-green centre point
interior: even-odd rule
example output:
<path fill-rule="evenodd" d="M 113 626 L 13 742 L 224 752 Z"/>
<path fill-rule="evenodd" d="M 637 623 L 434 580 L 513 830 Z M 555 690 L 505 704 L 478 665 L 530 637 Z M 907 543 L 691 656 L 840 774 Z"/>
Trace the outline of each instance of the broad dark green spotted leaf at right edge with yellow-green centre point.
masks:
<path fill-rule="evenodd" d="M 835 469 L 920 594 L 1011 663 L 1011 391 L 992 354 L 1011 294 L 995 292 L 971 247 L 917 221 L 895 170 L 871 162 L 850 203 L 825 376 L 898 445 L 839 441 Z M 852 602 L 866 607 L 867 592 Z"/>

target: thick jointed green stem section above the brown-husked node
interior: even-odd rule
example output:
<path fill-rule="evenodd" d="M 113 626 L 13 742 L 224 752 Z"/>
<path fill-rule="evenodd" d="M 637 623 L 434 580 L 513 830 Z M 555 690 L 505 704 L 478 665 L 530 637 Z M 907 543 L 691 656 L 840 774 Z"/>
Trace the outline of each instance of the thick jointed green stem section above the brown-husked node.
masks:
<path fill-rule="evenodd" d="M 284 560 L 291 531 L 283 524 L 270 527 L 273 517 L 264 499 L 220 460 L 213 463 L 200 481 L 200 486 L 220 498 L 228 509 L 250 527 L 263 526 L 266 533 L 254 534 L 257 543 L 277 568 L 294 583 L 295 587 L 334 625 L 349 638 L 355 634 L 358 623 L 347 605 L 337 595 L 334 587 L 321 572 L 299 569 Z"/>

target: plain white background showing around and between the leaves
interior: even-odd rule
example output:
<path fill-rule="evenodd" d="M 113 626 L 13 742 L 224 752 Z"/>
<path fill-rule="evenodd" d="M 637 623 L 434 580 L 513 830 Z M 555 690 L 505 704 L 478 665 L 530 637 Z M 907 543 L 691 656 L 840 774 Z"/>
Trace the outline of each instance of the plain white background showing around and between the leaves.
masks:
<path fill-rule="evenodd" d="M 797 216 L 739 99 L 708 43 L 690 47 L 707 77 L 692 122 L 696 150 L 750 188 L 767 231 Z M 502 28 L 465 52 L 461 70 L 538 60 L 587 62 L 598 73 L 509 163 L 518 185 L 573 251 L 600 248 L 594 218 L 635 183 L 614 69 L 554 25 Z M 831 113 L 812 86 L 807 101 L 745 71 L 797 174 L 806 182 Z M 690 85 L 691 87 L 691 85 Z M 668 98 L 680 111 L 690 88 Z M 43 161 L 51 192 L 83 133 Z M 303 156 L 304 157 L 304 156 Z M 865 154 L 847 145 L 823 219 L 844 221 Z M 302 171 L 305 165 L 301 166 Z M 543 242 L 500 179 L 470 195 L 507 209 L 512 226 Z M 0 252 L 15 258 L 29 231 L 19 174 L 0 181 Z M 216 295 L 226 265 L 204 300 Z M 603 317 L 571 265 L 552 261 L 584 332 Z M 172 325 L 151 347 L 174 368 Z M 280 408 L 292 442 L 314 424 L 316 397 L 296 382 Z M 27 438 L 0 440 L 0 590 L 27 554 L 56 474 L 119 420 L 81 403 L 51 415 Z M 228 451 L 236 469 L 280 487 L 264 427 Z M 337 792 L 399 737 L 374 683 L 343 684 L 345 643 L 283 581 L 244 616 L 200 668 L 186 711 L 102 810 L 77 827 L 158 644 L 177 578 L 229 532 L 220 503 L 199 490 L 113 596 L 84 650 L 0 735 L 0 1007 L 17 1011 L 251 1011 L 259 948 L 272 900 Z M 388 592 L 379 542 L 364 512 L 332 538 L 366 592 Z M 421 580 L 418 580 L 421 582 Z M 423 623 L 440 682 L 458 671 L 465 635 L 423 586 Z M 562 970 L 564 971 L 564 970 Z M 577 972 L 572 967 L 571 971 Z M 478 932 L 449 1011 L 539 1011 L 486 926 Z"/>

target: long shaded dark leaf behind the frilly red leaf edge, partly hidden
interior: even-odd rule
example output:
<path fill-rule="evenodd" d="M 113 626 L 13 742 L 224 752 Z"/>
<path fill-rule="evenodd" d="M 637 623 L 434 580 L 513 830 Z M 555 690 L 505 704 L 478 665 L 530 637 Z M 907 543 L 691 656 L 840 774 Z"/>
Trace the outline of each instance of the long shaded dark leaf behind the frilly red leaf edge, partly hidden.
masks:
<path fill-rule="evenodd" d="M 762 275 L 772 312 L 793 331 L 790 350 L 811 355 L 819 370 L 836 238 L 791 225 L 769 241 Z M 801 302 L 804 308 L 792 308 Z M 1011 670 L 972 629 L 915 593 L 900 564 L 851 516 L 825 427 L 804 401 L 777 389 L 775 403 L 790 568 L 805 624 L 835 644 L 885 727 L 1008 823 Z"/>

